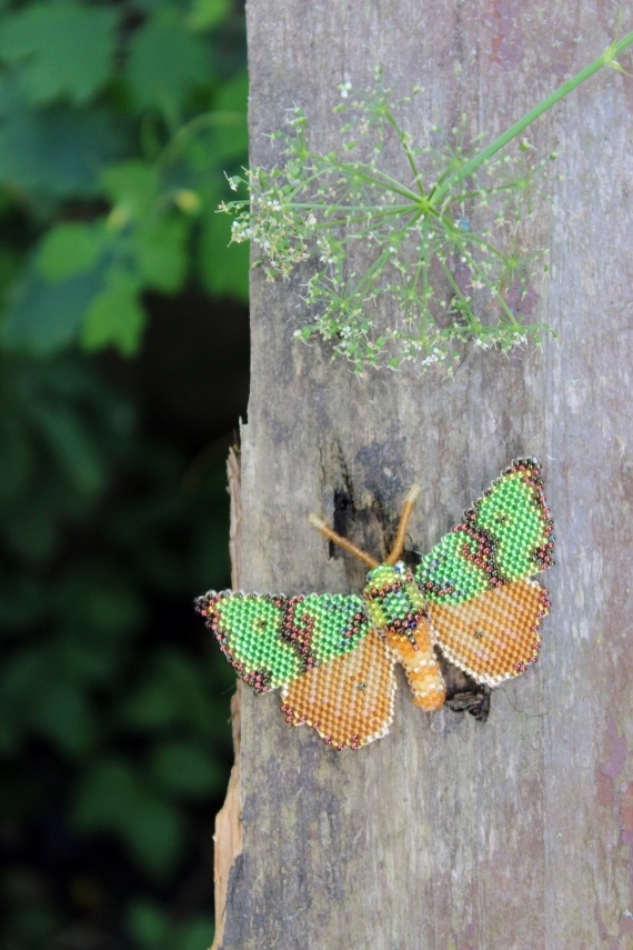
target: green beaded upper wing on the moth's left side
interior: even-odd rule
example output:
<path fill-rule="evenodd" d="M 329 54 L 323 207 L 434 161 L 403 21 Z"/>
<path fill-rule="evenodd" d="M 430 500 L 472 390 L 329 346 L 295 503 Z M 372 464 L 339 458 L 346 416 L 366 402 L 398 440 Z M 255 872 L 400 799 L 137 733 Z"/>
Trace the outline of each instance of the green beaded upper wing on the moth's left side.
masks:
<path fill-rule="evenodd" d="M 238 676 L 268 692 L 355 650 L 371 627 L 360 597 L 209 591 L 195 608 Z"/>

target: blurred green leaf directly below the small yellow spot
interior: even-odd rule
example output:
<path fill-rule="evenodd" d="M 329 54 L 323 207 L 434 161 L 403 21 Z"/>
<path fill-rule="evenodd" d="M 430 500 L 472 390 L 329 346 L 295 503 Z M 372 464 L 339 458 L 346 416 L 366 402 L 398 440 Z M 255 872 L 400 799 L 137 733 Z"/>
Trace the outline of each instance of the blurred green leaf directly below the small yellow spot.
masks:
<path fill-rule="evenodd" d="M 143 282 L 174 293 L 187 276 L 189 222 L 184 218 L 149 221 L 133 236 L 137 264 Z"/>

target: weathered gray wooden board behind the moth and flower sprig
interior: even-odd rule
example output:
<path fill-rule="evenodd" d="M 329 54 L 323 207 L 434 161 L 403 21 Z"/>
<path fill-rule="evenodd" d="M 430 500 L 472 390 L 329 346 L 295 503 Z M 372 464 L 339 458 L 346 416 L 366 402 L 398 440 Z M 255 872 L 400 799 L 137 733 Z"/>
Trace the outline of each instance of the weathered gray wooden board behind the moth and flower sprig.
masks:
<path fill-rule="evenodd" d="M 398 92 L 424 87 L 412 130 L 466 112 L 492 139 L 599 56 L 616 16 L 606 0 L 249 0 L 252 161 L 274 161 L 265 133 L 294 103 L 331 141 L 338 83 L 379 63 Z M 336 753 L 240 687 L 222 950 L 633 947 L 632 107 L 633 79 L 604 70 L 531 132 L 562 174 L 530 226 L 559 332 L 541 351 L 469 352 L 453 381 L 359 380 L 292 340 L 297 286 L 253 274 L 241 588 L 359 591 L 362 566 L 331 559 L 308 512 L 331 518 L 346 490 L 346 533 L 380 554 L 419 481 L 424 551 L 523 454 L 543 464 L 557 547 L 541 660 L 484 724 L 416 710 L 401 679 L 391 733 Z"/>

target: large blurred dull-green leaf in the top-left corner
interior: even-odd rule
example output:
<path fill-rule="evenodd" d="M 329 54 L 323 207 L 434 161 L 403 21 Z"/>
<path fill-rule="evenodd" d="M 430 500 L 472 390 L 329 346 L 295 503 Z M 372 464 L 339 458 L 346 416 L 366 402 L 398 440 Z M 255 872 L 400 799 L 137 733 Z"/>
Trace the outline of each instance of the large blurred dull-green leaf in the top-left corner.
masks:
<path fill-rule="evenodd" d="M 112 70 L 118 14 L 72 0 L 32 3 L 0 23 L 0 58 L 17 66 L 33 102 L 84 103 Z"/>

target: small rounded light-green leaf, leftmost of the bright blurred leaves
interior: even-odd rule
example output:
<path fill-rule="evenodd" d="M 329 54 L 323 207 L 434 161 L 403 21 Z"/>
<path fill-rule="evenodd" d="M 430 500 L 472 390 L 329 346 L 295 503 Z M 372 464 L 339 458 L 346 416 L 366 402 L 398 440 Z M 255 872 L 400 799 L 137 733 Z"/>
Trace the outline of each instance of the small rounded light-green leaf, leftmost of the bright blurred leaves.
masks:
<path fill-rule="evenodd" d="M 79 222 L 57 224 L 42 238 L 36 267 L 50 281 L 73 277 L 97 263 L 105 239 L 99 226 Z"/>

